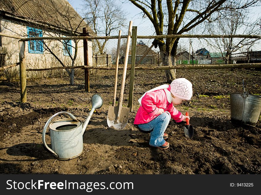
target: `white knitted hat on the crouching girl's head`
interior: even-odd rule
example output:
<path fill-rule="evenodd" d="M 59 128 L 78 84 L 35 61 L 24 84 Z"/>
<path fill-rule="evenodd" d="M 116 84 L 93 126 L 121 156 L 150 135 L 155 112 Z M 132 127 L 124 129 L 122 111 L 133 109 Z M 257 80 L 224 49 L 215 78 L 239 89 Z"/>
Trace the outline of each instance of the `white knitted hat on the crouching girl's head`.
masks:
<path fill-rule="evenodd" d="M 192 97 L 192 84 L 185 78 L 178 78 L 171 82 L 170 92 L 178 98 L 190 100 Z"/>

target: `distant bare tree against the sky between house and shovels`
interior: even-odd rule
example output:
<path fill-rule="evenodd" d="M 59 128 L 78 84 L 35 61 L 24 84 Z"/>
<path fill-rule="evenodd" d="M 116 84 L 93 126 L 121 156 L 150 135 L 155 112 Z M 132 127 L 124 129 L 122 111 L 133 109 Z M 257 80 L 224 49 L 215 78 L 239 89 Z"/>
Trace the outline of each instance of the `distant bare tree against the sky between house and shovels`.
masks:
<path fill-rule="evenodd" d="M 86 18 L 90 18 L 90 25 L 98 36 L 110 36 L 118 31 L 120 27 L 124 27 L 126 20 L 122 8 L 115 4 L 113 0 L 85 0 Z M 96 52 L 104 54 L 104 48 L 108 39 L 95 40 L 94 48 Z"/>

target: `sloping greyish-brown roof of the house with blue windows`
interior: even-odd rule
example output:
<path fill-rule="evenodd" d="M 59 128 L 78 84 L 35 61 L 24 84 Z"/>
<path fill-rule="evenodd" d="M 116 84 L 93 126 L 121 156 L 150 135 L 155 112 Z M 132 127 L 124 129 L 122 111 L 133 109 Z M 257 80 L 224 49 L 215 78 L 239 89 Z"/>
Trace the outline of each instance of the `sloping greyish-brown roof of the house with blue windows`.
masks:
<path fill-rule="evenodd" d="M 75 34 L 80 34 L 85 27 L 90 36 L 95 36 L 67 0 L 1 0 L 0 10 L 3 18 L 22 20 L 37 28 L 59 29 L 67 33 L 76 31 Z"/>

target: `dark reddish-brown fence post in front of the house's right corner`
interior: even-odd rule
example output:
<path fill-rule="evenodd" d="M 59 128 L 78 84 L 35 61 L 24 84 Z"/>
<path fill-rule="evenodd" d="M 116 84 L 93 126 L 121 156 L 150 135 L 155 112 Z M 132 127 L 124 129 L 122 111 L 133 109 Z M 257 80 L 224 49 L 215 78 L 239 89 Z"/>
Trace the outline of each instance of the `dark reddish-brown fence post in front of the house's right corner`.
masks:
<path fill-rule="evenodd" d="M 86 33 L 86 28 L 82 28 L 82 35 L 88 36 Z M 88 66 L 88 42 L 87 39 L 83 39 L 83 58 L 84 66 Z M 89 82 L 89 69 L 84 69 L 84 83 L 85 83 L 85 92 L 90 92 L 90 82 Z"/>

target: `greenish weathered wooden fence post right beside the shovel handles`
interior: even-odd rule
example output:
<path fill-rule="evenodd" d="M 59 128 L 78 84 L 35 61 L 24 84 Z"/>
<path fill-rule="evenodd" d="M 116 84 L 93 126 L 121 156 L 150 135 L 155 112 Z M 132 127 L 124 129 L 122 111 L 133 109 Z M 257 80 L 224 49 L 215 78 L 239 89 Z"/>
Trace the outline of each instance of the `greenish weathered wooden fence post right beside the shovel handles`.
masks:
<path fill-rule="evenodd" d="M 132 27 L 131 36 L 131 67 L 130 67 L 130 91 L 129 91 L 129 102 L 128 108 L 132 112 L 133 106 L 133 89 L 134 89 L 134 72 L 135 72 L 135 61 L 136 61 L 136 46 L 137 46 L 137 26 Z"/>

